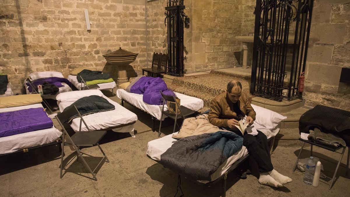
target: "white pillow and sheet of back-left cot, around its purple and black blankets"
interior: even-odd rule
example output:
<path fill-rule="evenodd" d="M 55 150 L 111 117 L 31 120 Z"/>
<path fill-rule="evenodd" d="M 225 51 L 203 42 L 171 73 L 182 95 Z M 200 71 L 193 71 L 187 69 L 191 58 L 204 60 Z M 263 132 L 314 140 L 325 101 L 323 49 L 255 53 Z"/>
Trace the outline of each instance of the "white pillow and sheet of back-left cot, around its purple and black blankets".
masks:
<path fill-rule="evenodd" d="M 60 73 L 60 72 L 53 72 L 53 71 L 52 71 L 52 72 L 51 72 L 51 71 L 47 71 L 47 72 L 31 73 L 31 74 L 29 74 L 29 77 L 30 77 L 30 78 L 29 78 L 30 81 L 34 81 L 34 80 L 42 79 L 42 78 L 46 78 L 46 77 L 59 77 L 59 78 L 64 78 L 63 75 L 62 75 L 62 73 Z M 61 84 L 62 84 L 63 87 L 59 87 L 59 88 L 58 88 L 57 94 L 55 94 L 55 95 L 49 95 L 49 94 L 44 95 L 44 96 L 43 96 L 43 99 L 53 99 L 53 100 L 56 100 L 56 96 L 57 96 L 59 93 L 68 92 L 68 91 L 73 91 L 72 88 L 71 88 L 68 84 L 66 84 L 66 83 L 64 83 L 64 82 L 62 82 Z M 27 81 L 24 82 L 24 85 L 25 85 L 26 93 L 27 93 L 27 94 L 32 94 L 32 93 L 34 93 L 33 90 L 32 90 L 32 91 L 29 91 L 29 90 L 28 90 L 28 87 L 29 87 L 29 86 L 27 85 Z"/>

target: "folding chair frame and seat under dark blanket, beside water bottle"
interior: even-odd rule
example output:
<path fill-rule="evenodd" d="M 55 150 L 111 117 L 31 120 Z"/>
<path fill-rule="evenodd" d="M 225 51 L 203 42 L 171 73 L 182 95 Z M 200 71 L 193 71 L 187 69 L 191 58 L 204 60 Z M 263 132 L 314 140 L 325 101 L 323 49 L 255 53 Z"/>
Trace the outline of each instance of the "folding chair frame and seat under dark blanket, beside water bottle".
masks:
<path fill-rule="evenodd" d="M 331 189 L 333 184 L 334 184 L 334 181 L 335 181 L 335 176 L 337 175 L 337 171 L 338 171 L 338 168 L 339 168 L 339 165 L 342 161 L 342 158 L 343 158 L 343 155 L 344 155 L 344 152 L 345 152 L 345 149 L 346 147 L 343 147 L 343 146 L 339 146 L 339 147 L 330 147 L 330 146 L 326 146 L 326 145 L 323 145 L 323 144 L 318 144 L 318 143 L 315 143 L 313 141 L 309 141 L 309 140 L 304 140 L 302 138 L 299 138 L 300 141 L 304 142 L 303 145 L 301 146 L 301 149 L 300 149 L 300 152 L 299 152 L 299 155 L 298 157 L 296 158 L 296 161 L 295 161 L 295 165 L 294 165 L 294 168 L 293 168 L 293 172 L 296 170 L 296 167 L 297 167 L 297 163 L 299 161 L 299 157 L 301 155 L 301 152 L 304 148 L 304 145 L 305 143 L 309 143 L 311 145 L 311 155 L 312 156 L 312 148 L 313 148 L 313 145 L 315 145 L 316 147 L 320 147 L 320 148 L 323 148 L 323 149 L 326 149 L 326 150 L 329 150 L 329 151 L 332 151 L 332 152 L 336 152 L 336 153 L 339 153 L 341 154 L 340 155 L 340 158 L 339 158 L 339 161 L 338 161 L 338 164 L 337 164 L 337 167 L 335 168 L 335 171 L 334 171 L 334 175 L 333 175 L 333 178 L 331 177 L 327 177 L 327 178 L 331 178 L 331 182 L 328 183 L 328 182 L 325 182 L 323 181 L 322 179 L 320 179 L 320 181 L 322 181 L 323 183 L 326 183 L 326 184 L 329 184 L 329 188 L 328 189 Z M 339 149 L 343 149 L 342 152 L 337 152 L 337 150 Z M 345 174 L 348 175 L 348 168 L 349 168 L 349 157 L 350 157 L 350 149 L 348 148 L 348 159 L 347 159 L 347 162 L 346 162 L 346 171 L 345 171 Z"/>

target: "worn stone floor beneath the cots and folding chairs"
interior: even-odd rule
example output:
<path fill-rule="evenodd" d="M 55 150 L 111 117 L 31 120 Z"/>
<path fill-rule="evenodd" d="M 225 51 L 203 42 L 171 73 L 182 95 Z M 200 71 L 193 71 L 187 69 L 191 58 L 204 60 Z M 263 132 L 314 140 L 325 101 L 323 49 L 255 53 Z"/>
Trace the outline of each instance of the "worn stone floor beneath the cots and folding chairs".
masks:
<path fill-rule="evenodd" d="M 116 96 L 111 97 L 119 101 Z M 119 101 L 120 102 L 120 101 Z M 98 181 L 93 181 L 82 163 L 75 160 L 75 152 L 65 148 L 64 163 L 70 162 L 59 178 L 60 153 L 55 146 L 0 157 L 0 196 L 174 196 L 177 174 L 146 156 L 147 142 L 157 138 L 153 133 L 151 118 L 141 111 L 127 106 L 138 114 L 135 138 L 126 134 L 110 132 L 103 139 L 102 148 L 110 159 L 98 167 Z M 162 131 L 169 134 L 172 122 L 167 121 Z M 56 124 L 57 125 L 57 124 Z M 276 143 L 278 144 L 278 143 Z M 308 148 L 307 148 L 308 149 Z M 350 176 L 345 176 L 346 157 L 339 167 L 338 178 L 331 190 L 320 183 L 318 188 L 303 183 L 301 172 L 292 172 L 300 147 L 275 147 L 271 156 L 276 170 L 293 179 L 284 188 L 275 189 L 260 185 L 252 175 L 245 180 L 238 179 L 234 172 L 227 179 L 227 196 L 349 196 Z M 309 150 L 309 149 L 308 149 Z M 96 157 L 85 157 L 93 168 L 101 159 L 97 147 L 84 148 L 83 152 Z M 323 161 L 325 174 L 331 176 L 337 154 L 314 148 L 315 156 Z M 302 158 L 309 155 L 304 151 Z M 202 187 L 185 180 L 181 182 L 185 196 L 221 196 L 221 183 Z M 179 193 L 176 196 L 180 196 Z"/>

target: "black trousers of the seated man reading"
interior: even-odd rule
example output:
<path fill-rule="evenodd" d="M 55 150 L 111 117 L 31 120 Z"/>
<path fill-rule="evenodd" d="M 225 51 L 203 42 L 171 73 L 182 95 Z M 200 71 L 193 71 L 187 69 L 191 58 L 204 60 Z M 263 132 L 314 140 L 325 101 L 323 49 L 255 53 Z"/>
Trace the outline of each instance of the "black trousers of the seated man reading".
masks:
<path fill-rule="evenodd" d="M 242 133 L 237 128 L 224 127 L 224 129 L 242 136 Z M 258 163 L 260 172 L 269 172 L 273 170 L 271 163 L 270 151 L 267 144 L 267 137 L 261 131 L 258 135 L 250 135 L 245 133 L 243 136 L 243 145 L 248 149 L 249 154 Z"/>

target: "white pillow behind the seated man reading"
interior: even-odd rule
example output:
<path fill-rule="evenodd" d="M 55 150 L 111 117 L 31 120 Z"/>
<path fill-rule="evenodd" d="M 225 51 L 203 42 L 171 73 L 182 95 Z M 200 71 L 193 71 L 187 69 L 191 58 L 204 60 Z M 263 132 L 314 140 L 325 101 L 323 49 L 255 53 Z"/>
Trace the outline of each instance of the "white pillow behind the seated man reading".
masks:
<path fill-rule="evenodd" d="M 275 128 L 278 126 L 278 124 L 285 120 L 287 117 L 282 116 L 279 113 L 276 113 L 272 110 L 259 107 L 252 104 L 252 107 L 254 111 L 257 113 L 255 116 L 255 123 L 260 124 L 263 127 L 266 127 L 267 129 L 275 130 Z"/>

